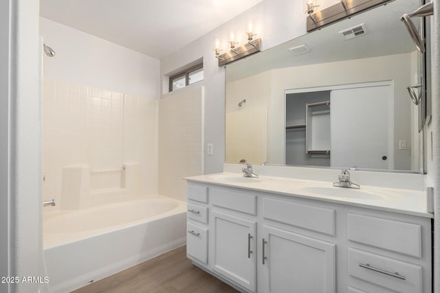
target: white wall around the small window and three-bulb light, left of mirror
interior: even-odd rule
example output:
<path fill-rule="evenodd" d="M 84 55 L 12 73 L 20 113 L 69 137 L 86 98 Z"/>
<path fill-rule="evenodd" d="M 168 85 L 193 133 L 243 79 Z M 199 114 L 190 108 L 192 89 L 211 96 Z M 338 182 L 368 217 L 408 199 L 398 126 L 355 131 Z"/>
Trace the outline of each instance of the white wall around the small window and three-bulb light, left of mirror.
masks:
<path fill-rule="evenodd" d="M 243 42 L 245 22 L 252 18 L 255 21 L 256 34 L 262 39 L 262 49 L 274 47 L 287 40 L 306 33 L 305 14 L 302 12 L 302 1 L 265 0 L 250 10 L 221 25 L 216 30 L 186 45 L 170 56 L 161 60 L 161 75 L 168 75 L 180 67 L 203 58 L 204 86 L 207 93 L 205 100 L 204 145 L 214 143 L 214 154 L 204 154 L 206 174 L 221 172 L 225 161 L 225 74 L 219 67 L 212 51 L 214 36 L 227 39 L 231 26 L 242 27 L 238 34 Z M 162 94 L 166 93 L 166 80 L 162 82 Z"/>

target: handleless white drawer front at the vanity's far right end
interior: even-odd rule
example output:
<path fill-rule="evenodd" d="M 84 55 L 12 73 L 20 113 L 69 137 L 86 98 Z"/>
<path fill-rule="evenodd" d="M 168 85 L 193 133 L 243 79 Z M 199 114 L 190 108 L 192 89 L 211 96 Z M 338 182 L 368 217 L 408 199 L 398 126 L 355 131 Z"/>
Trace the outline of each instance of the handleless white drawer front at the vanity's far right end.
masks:
<path fill-rule="evenodd" d="M 421 257 L 421 226 L 417 224 L 348 213 L 347 237 L 362 244 Z"/>

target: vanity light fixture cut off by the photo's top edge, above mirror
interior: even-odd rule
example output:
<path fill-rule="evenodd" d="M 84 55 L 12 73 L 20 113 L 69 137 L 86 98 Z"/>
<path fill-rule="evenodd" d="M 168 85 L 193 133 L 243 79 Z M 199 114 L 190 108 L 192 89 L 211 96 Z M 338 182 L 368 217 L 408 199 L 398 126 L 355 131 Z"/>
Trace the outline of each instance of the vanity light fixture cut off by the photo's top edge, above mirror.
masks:
<path fill-rule="evenodd" d="M 308 14 L 307 32 L 318 30 L 336 21 L 347 19 L 355 14 L 391 1 L 394 0 L 338 0 L 339 3 L 331 5 L 329 8 L 325 8 L 319 12 L 312 11 L 311 14 Z"/>

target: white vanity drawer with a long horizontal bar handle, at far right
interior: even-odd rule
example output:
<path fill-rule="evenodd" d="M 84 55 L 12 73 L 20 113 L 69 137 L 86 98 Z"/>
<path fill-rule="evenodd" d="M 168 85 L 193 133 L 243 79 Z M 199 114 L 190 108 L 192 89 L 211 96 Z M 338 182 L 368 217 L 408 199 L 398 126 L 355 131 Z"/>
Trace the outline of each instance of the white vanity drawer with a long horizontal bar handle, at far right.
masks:
<path fill-rule="evenodd" d="M 422 267 L 349 248 L 349 275 L 397 292 L 422 292 Z"/>

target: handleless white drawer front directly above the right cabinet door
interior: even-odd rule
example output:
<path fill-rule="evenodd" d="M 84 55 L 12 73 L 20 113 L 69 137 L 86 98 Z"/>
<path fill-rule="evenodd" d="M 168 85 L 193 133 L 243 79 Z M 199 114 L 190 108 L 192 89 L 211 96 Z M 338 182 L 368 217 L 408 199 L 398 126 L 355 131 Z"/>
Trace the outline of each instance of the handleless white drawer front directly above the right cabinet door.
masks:
<path fill-rule="evenodd" d="M 263 198 L 263 217 L 267 220 L 335 235 L 335 211 L 333 209 Z"/>

